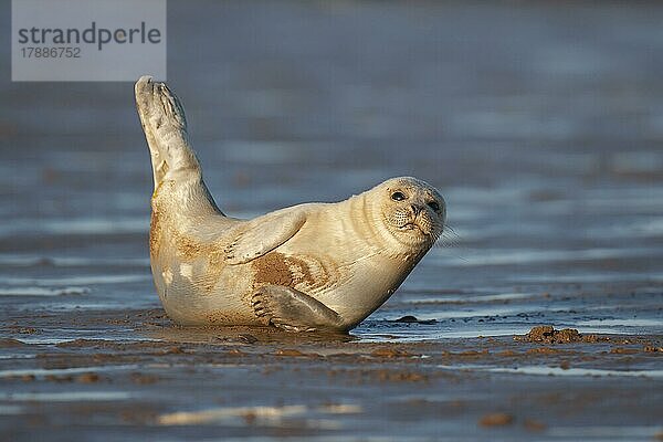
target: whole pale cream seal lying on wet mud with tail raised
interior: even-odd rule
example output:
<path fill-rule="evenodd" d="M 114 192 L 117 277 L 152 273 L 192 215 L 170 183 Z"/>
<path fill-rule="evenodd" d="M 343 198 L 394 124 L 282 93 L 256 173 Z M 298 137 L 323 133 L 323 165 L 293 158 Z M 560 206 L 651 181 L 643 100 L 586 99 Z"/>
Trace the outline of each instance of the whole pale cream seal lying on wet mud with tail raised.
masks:
<path fill-rule="evenodd" d="M 227 217 L 202 179 L 179 99 L 149 76 L 135 93 L 155 182 L 151 271 L 166 313 L 181 325 L 347 332 L 442 234 L 444 199 L 411 177 L 340 202 Z"/>

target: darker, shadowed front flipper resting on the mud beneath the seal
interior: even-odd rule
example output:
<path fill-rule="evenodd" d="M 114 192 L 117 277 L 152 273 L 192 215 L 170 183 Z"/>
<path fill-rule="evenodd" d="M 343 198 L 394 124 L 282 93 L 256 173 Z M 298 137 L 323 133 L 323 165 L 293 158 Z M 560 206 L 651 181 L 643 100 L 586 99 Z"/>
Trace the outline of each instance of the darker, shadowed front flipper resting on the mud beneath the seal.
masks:
<path fill-rule="evenodd" d="M 266 285 L 251 299 L 255 315 L 290 332 L 343 330 L 340 316 L 325 304 L 291 287 Z"/>

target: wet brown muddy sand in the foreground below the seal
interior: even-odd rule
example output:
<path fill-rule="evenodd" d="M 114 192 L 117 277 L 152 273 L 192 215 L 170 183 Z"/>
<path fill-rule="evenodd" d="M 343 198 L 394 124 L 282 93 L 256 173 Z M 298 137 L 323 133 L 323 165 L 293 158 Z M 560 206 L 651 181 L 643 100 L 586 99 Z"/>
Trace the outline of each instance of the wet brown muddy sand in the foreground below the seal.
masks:
<path fill-rule="evenodd" d="M 389 324 L 396 334 L 419 326 Z M 133 339 L 36 344 L 50 327 Z M 18 338 L 0 341 L 7 440 L 652 440 L 660 431 L 661 336 L 544 329 L 371 343 L 180 328 L 160 309 L 43 314 L 9 329 Z"/>

